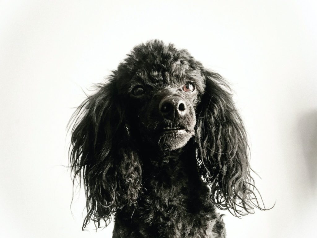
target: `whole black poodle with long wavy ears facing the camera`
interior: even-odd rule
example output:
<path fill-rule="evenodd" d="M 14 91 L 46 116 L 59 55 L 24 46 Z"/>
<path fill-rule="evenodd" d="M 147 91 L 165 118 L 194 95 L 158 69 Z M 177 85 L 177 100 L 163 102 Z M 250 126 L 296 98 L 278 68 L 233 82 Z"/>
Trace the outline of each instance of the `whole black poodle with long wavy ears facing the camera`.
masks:
<path fill-rule="evenodd" d="M 140 44 L 97 89 L 72 117 L 83 228 L 113 215 L 113 237 L 225 237 L 216 207 L 264 209 L 230 89 L 187 50 Z"/>

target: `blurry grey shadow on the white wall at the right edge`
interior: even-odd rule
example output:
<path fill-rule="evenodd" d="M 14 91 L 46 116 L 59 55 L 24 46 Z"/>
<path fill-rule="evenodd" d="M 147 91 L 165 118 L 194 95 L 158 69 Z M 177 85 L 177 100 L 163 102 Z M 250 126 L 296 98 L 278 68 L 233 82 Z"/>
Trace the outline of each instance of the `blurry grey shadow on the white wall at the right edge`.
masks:
<path fill-rule="evenodd" d="M 299 121 L 302 149 L 311 188 L 317 191 L 317 109 L 306 113 Z"/>

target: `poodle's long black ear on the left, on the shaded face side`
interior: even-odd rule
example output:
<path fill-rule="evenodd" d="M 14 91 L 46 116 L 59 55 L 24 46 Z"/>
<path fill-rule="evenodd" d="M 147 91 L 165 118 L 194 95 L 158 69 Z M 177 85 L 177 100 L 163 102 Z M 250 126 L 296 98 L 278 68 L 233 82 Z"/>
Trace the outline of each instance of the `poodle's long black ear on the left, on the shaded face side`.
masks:
<path fill-rule="evenodd" d="M 86 192 L 87 216 L 107 224 L 123 206 L 131 206 L 141 188 L 141 165 L 129 142 L 125 110 L 117 93 L 114 76 L 97 85 L 71 118 L 70 163 L 73 182 L 79 178 Z M 97 227 L 96 227 L 97 228 Z"/>

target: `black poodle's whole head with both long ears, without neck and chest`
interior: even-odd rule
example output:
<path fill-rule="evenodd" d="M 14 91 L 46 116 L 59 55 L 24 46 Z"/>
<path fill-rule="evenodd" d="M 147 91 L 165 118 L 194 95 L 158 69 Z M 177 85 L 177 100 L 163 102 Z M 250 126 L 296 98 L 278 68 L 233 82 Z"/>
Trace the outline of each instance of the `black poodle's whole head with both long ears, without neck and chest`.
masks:
<path fill-rule="evenodd" d="M 218 208 L 245 215 L 260 206 L 230 89 L 186 50 L 157 40 L 136 46 L 72 118 L 70 162 L 87 196 L 83 227 L 137 203 L 142 147 L 169 153 L 190 139 Z"/>

